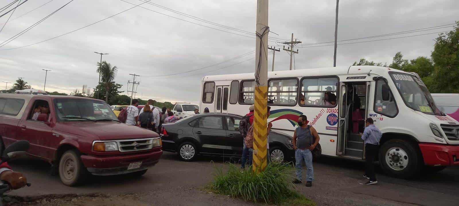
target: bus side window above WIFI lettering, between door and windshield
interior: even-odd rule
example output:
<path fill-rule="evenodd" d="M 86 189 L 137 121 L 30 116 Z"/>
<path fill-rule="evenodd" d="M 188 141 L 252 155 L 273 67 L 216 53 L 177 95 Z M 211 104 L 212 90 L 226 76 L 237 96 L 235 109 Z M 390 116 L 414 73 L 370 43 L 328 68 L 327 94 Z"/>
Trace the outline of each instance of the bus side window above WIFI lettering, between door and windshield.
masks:
<path fill-rule="evenodd" d="M 397 104 L 392 96 L 392 92 L 386 82 L 383 80 L 376 81 L 375 113 L 388 117 L 395 117 L 398 113 Z"/>

